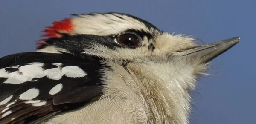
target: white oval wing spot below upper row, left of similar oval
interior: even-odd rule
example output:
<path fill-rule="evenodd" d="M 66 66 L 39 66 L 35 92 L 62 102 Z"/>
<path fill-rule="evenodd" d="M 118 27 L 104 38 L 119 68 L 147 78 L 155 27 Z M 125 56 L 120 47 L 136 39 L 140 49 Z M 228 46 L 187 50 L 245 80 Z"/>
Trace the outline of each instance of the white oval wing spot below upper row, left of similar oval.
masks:
<path fill-rule="evenodd" d="M 20 99 L 30 100 L 30 99 L 36 98 L 38 95 L 39 95 L 39 90 L 36 88 L 31 88 L 26 92 L 23 92 L 22 94 L 20 94 Z"/>

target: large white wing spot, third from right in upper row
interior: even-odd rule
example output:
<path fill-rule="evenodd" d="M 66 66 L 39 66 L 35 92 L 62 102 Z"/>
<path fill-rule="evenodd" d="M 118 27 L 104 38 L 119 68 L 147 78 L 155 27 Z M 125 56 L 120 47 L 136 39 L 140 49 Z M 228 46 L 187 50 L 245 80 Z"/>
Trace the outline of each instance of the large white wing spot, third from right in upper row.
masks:
<path fill-rule="evenodd" d="M 32 63 L 29 65 L 20 66 L 19 71 L 26 77 L 42 78 L 45 76 L 42 69 L 43 64 L 44 63 Z"/>

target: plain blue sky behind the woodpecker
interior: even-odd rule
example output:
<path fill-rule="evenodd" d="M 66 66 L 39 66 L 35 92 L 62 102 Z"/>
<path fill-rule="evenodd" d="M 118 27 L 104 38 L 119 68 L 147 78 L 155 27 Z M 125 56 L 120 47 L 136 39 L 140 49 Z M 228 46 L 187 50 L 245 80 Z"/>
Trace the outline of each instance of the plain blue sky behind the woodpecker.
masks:
<path fill-rule="evenodd" d="M 192 92 L 191 124 L 255 124 L 255 0 L 2 0 L 0 57 L 35 50 L 41 30 L 69 14 L 123 12 L 167 32 L 186 33 L 205 43 L 241 37 L 215 58 L 211 74 Z"/>

